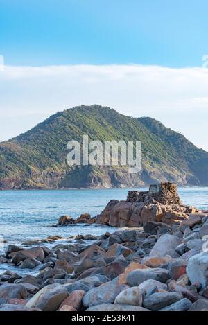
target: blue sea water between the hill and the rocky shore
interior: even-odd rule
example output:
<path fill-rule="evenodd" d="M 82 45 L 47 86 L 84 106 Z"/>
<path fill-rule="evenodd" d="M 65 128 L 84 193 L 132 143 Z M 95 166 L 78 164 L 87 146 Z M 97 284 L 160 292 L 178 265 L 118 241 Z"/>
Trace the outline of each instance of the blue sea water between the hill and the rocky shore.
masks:
<path fill-rule="evenodd" d="M 208 209 L 208 188 L 179 188 L 184 204 Z M 100 225 L 50 227 L 67 214 L 96 216 L 112 199 L 125 200 L 128 188 L 91 190 L 0 191 L 0 236 L 8 243 L 21 243 L 51 235 L 104 234 L 115 228 Z"/>

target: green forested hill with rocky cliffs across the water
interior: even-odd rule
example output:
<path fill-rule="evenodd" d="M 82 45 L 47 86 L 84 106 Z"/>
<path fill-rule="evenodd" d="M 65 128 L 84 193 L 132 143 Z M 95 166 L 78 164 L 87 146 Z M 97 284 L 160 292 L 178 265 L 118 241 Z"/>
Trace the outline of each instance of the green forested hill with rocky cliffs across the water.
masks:
<path fill-rule="evenodd" d="M 67 166 L 67 143 L 141 140 L 142 170 L 123 166 Z M 80 106 L 0 143 L 0 188 L 143 186 L 153 182 L 208 185 L 208 153 L 152 118 L 132 118 L 100 105 Z"/>

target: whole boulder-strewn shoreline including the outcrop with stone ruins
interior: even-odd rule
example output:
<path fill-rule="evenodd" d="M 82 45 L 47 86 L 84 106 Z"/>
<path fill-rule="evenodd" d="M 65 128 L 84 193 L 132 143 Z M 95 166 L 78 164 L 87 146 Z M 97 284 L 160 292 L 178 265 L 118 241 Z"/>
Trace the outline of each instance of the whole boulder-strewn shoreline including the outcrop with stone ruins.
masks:
<path fill-rule="evenodd" d="M 108 204 L 100 216 L 85 214 L 76 220 L 109 225 L 119 220 L 125 226 L 136 204 L 141 211 L 152 211 L 146 211 L 146 218 L 137 213 L 142 229 L 80 234 L 66 243 L 53 236 L 42 243 L 28 242 L 30 248 L 6 246 L 0 263 L 16 271 L 0 274 L 0 311 L 208 311 L 208 213 L 176 203 L 175 194 L 171 204 L 159 202 L 161 187 L 137 193 L 136 200 L 130 193 L 127 201 L 116 203 L 122 209 Z M 166 209 L 155 213 L 159 209 L 152 204 Z M 170 207 L 177 213 L 167 218 Z M 64 217 L 58 225 L 75 222 Z M 21 270 L 37 274 L 22 275 Z"/>

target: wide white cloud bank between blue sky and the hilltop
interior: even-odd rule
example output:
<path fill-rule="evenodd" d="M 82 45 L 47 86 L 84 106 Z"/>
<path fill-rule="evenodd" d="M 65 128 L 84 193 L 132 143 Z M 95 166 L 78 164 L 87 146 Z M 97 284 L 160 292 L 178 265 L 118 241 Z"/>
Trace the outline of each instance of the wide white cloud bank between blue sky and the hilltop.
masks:
<path fill-rule="evenodd" d="M 142 65 L 9 67 L 0 71 L 0 140 L 47 116 L 94 103 L 150 116 L 208 150 L 208 69 Z"/>

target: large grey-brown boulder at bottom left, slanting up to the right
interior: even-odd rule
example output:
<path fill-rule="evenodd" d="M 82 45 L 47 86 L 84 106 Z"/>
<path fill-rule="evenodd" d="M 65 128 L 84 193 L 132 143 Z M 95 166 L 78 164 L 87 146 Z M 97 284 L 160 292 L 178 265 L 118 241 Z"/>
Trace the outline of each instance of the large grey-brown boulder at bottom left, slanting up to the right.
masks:
<path fill-rule="evenodd" d="M 67 288 L 54 283 L 38 291 L 26 304 L 28 308 L 39 308 L 42 311 L 58 310 L 62 301 L 68 297 Z"/>

